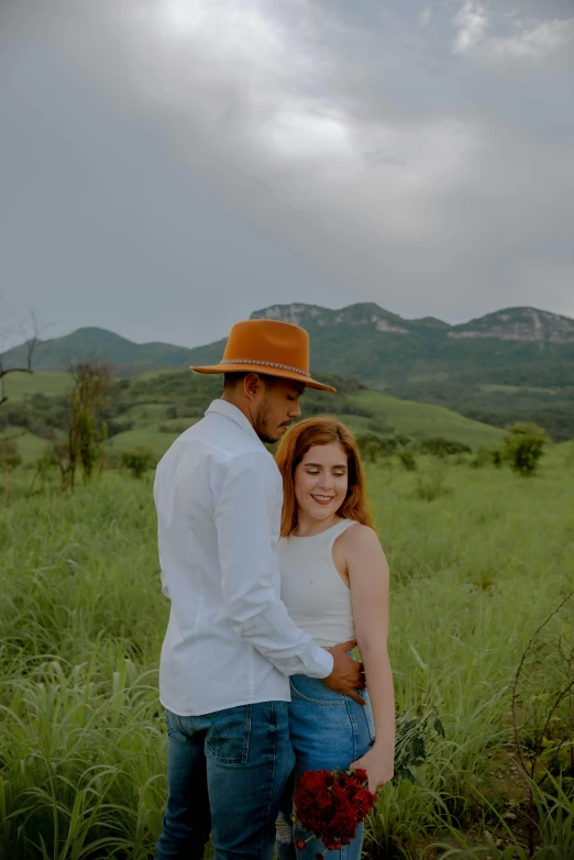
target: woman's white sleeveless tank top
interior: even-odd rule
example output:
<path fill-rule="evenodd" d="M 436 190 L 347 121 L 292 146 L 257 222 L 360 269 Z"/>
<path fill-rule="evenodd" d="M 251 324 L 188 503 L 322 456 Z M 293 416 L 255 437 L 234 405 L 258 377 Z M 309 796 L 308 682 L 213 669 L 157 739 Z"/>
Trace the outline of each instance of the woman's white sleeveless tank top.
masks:
<path fill-rule="evenodd" d="M 323 648 L 355 638 L 351 591 L 333 562 L 333 543 L 353 525 L 344 519 L 319 534 L 279 540 L 282 600 L 297 627 Z"/>

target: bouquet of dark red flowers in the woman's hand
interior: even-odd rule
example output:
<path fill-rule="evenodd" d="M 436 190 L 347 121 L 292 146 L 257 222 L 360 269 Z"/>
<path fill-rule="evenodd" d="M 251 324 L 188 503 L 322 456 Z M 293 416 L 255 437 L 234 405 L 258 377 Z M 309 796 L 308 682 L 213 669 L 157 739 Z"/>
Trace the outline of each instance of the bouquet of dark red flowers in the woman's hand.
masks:
<path fill-rule="evenodd" d="M 366 787 L 366 771 L 306 771 L 295 792 L 295 812 L 328 851 L 349 845 L 356 828 L 375 806 Z"/>

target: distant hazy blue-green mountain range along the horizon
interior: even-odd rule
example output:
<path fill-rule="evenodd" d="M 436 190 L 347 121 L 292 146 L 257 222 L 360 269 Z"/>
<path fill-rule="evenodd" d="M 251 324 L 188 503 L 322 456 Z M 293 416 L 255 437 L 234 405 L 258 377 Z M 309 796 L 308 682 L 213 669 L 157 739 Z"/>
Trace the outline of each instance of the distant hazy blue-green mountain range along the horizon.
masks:
<path fill-rule="evenodd" d="M 556 441 L 574 438 L 574 320 L 569 317 L 519 307 L 450 326 L 432 317 L 407 320 L 372 302 L 340 310 L 276 305 L 252 317 L 303 326 L 311 335 L 314 373 L 352 376 L 388 395 L 442 406 L 482 423 L 501 428 L 534 421 Z M 136 344 L 87 328 L 40 342 L 35 363 L 42 372 L 57 372 L 70 359 L 97 355 L 118 376 L 134 376 L 218 362 L 223 348 L 224 341 L 196 349 Z M 11 350 L 4 366 L 23 357 L 23 346 Z M 32 390 L 34 383 L 26 384 Z"/>

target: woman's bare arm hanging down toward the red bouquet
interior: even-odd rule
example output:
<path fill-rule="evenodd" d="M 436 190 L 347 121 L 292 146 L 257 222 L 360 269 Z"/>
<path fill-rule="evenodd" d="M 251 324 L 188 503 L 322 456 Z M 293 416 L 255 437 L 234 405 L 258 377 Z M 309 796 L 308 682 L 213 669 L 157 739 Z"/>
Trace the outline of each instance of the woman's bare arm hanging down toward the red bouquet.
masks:
<path fill-rule="evenodd" d="M 378 538 L 366 526 L 347 529 L 343 547 L 355 633 L 375 718 L 375 743 L 352 768 L 364 768 L 375 792 L 393 779 L 395 696 L 387 652 L 389 573 Z"/>

